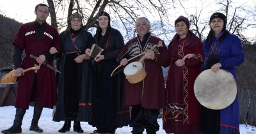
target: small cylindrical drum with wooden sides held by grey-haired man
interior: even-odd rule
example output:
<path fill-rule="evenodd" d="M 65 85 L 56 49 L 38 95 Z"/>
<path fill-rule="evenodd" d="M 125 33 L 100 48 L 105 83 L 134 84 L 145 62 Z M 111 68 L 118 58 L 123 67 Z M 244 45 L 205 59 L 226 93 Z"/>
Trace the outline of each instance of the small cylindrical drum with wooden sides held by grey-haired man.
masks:
<path fill-rule="evenodd" d="M 135 84 L 143 80 L 147 73 L 141 62 L 132 62 L 125 66 L 124 74 L 126 79 L 131 83 Z"/>

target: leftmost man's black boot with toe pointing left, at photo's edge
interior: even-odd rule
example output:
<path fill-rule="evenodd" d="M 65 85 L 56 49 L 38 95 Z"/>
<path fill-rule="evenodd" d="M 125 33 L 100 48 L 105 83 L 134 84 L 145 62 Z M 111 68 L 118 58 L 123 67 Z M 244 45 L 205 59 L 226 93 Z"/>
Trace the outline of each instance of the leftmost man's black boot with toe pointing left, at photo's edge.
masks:
<path fill-rule="evenodd" d="M 13 125 L 8 130 L 1 131 L 2 133 L 21 133 L 21 124 L 26 113 L 26 109 L 16 108 L 16 114 L 13 121 Z"/>

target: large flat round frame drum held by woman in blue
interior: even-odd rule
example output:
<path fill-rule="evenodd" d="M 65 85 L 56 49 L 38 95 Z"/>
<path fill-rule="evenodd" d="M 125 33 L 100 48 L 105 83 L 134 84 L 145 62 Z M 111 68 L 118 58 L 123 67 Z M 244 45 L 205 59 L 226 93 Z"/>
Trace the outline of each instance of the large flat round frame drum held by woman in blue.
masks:
<path fill-rule="evenodd" d="M 236 79 L 231 73 L 220 69 L 217 73 L 205 70 L 196 77 L 194 84 L 196 99 L 204 107 L 220 110 L 228 107 L 236 98 Z"/>

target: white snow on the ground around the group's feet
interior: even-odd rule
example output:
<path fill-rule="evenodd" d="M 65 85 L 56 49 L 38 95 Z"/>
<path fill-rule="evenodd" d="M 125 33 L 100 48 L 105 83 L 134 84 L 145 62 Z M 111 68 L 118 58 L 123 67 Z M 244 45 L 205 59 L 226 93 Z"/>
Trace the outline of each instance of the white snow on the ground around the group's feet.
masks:
<path fill-rule="evenodd" d="M 33 107 L 29 106 L 29 110 L 27 110 L 26 114 L 24 115 L 24 119 L 22 122 L 22 133 L 36 133 L 35 131 L 29 131 L 29 126 L 31 124 L 31 119 L 33 115 Z M 0 131 L 6 130 L 10 128 L 13 124 L 13 119 L 15 116 L 15 108 L 13 106 L 6 106 L 6 107 L 0 107 Z M 162 120 L 157 120 L 160 125 L 160 130 L 157 131 L 157 133 L 164 133 L 164 130 L 162 129 Z M 73 124 L 73 123 L 72 123 Z M 44 108 L 41 118 L 39 120 L 38 126 L 44 130 L 43 133 L 47 134 L 53 134 L 58 133 L 58 130 L 63 126 L 63 122 L 54 122 L 52 121 L 52 109 L 50 108 Z M 88 123 L 81 123 L 81 127 L 84 130 L 84 133 L 92 133 L 93 130 L 96 130 L 96 128 L 93 128 Z M 129 126 L 125 126 L 123 128 L 118 128 L 116 130 L 116 134 L 128 134 L 131 133 L 132 128 Z M 70 131 L 67 131 L 66 133 L 77 133 L 74 132 L 71 126 Z M 146 133 L 144 131 L 144 133 Z M 143 134 L 144 134 L 143 133 Z M 241 134 L 256 134 L 256 128 L 254 126 L 249 126 L 245 124 L 240 125 L 240 133 Z M 38 133 L 36 133 L 38 134 Z"/>

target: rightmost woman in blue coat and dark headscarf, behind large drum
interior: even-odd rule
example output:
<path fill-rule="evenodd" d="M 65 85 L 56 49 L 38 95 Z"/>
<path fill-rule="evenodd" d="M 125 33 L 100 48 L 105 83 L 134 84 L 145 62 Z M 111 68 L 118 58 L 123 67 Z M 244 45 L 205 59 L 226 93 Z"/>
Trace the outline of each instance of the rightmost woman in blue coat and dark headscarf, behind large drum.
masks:
<path fill-rule="evenodd" d="M 211 69 L 216 73 L 221 68 L 236 78 L 235 66 L 244 61 L 241 40 L 226 30 L 227 17 L 223 13 L 213 13 L 209 23 L 211 31 L 203 43 L 202 71 Z M 199 133 L 239 133 L 238 96 L 231 105 L 221 110 L 201 105 Z"/>

